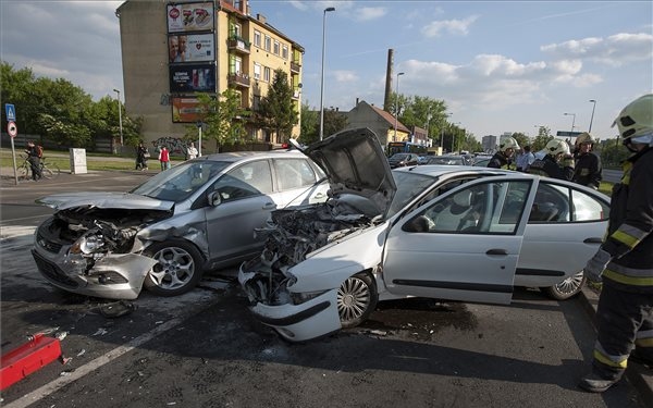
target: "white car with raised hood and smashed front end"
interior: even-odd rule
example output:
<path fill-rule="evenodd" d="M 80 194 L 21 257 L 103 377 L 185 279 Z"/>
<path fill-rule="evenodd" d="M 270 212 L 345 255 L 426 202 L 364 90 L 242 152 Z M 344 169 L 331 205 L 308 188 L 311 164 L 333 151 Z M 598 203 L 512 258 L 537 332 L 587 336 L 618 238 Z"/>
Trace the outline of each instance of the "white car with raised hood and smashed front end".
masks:
<path fill-rule="evenodd" d="M 266 250 L 241 267 L 250 310 L 291 342 L 365 321 L 409 296 L 509 304 L 515 286 L 576 295 L 607 226 L 607 196 L 498 169 L 390 170 L 369 129 L 304 151 L 328 174 L 324 203 L 272 212 Z"/>

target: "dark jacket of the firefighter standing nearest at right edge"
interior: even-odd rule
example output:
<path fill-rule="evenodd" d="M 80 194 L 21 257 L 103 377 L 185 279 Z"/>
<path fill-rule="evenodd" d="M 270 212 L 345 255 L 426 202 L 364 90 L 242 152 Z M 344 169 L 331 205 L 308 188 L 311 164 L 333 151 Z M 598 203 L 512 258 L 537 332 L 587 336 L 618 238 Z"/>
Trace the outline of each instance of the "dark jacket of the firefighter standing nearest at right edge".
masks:
<path fill-rule="evenodd" d="M 623 290 L 653 294 L 653 148 L 624 162 L 612 193 L 609 224 L 602 248 L 613 260 L 603 281 Z"/>

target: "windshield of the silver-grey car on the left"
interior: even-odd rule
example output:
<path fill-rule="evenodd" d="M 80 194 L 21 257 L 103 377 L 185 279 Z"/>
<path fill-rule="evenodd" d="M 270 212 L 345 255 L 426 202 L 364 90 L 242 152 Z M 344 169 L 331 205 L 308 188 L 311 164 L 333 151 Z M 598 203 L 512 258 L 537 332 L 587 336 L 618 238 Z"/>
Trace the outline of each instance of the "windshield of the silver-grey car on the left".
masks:
<path fill-rule="evenodd" d="M 188 161 L 161 172 L 130 193 L 180 202 L 224 170 L 226 161 Z"/>

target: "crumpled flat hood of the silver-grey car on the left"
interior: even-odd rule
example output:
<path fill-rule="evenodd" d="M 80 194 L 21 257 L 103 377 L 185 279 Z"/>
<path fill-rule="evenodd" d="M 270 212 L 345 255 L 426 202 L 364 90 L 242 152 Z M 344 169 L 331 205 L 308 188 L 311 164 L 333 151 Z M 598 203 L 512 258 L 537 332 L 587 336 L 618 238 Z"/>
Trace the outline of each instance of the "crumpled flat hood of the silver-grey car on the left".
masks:
<path fill-rule="evenodd" d="M 41 203 L 56 210 L 65 210 L 75 207 L 120 208 L 130 210 L 163 210 L 170 211 L 174 207 L 172 201 L 139 196 L 131 193 L 60 193 L 39 198 Z"/>

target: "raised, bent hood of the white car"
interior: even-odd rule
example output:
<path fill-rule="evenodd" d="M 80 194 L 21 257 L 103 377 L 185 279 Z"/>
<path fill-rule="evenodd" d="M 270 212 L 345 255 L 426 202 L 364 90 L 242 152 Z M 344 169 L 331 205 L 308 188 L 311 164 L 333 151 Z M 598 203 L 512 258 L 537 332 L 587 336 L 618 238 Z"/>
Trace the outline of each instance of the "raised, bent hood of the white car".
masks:
<path fill-rule="evenodd" d="M 379 138 L 369 128 L 338 132 L 308 147 L 298 146 L 329 177 L 333 196 L 353 194 L 371 200 L 385 215 L 397 189 Z"/>

